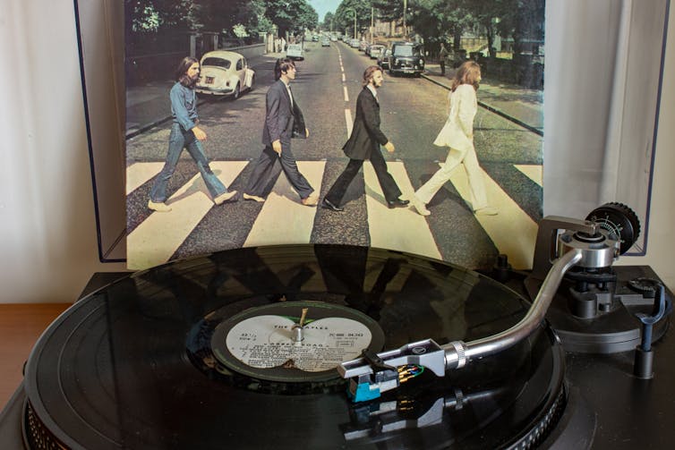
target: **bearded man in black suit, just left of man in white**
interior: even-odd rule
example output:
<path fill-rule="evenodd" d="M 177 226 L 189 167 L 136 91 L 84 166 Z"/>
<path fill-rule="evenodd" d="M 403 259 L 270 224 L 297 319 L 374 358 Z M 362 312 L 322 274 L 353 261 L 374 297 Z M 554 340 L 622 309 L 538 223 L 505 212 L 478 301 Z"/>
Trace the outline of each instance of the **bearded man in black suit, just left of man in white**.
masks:
<path fill-rule="evenodd" d="M 387 200 L 387 206 L 400 208 L 408 204 L 408 200 L 398 198 L 401 191 L 394 177 L 387 171 L 387 163 L 380 153 L 380 145 L 384 146 L 389 153 L 394 151 L 394 144 L 380 131 L 380 103 L 377 101 L 377 89 L 380 89 L 383 81 L 380 66 L 372 65 L 363 72 L 363 89 L 356 99 L 354 127 L 349 140 L 342 148 L 346 156 L 350 158 L 349 163 L 323 198 L 322 208 L 333 211 L 343 210 L 340 202 L 345 196 L 349 183 L 352 183 L 363 166 L 364 159 L 371 160 L 372 168 L 375 169 L 384 198 Z"/>

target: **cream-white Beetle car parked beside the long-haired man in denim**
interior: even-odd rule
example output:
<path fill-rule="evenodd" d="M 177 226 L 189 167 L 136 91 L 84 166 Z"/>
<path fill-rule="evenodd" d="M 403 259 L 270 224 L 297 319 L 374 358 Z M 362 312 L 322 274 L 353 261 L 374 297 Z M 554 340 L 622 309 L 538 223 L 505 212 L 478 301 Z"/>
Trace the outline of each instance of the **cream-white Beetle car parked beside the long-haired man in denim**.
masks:
<path fill-rule="evenodd" d="M 238 98 L 242 91 L 253 89 L 255 72 L 243 55 L 216 50 L 201 56 L 200 64 L 201 76 L 195 86 L 198 94 Z"/>

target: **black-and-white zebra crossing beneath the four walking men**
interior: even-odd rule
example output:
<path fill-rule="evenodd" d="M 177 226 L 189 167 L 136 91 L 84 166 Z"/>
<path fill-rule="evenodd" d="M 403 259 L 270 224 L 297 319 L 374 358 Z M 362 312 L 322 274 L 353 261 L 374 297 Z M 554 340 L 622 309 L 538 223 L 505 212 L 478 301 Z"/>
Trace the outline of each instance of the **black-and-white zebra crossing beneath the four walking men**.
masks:
<path fill-rule="evenodd" d="M 324 193 L 328 190 L 329 186 L 322 186 L 322 183 L 329 183 L 324 180 L 329 162 L 319 160 L 297 163 L 316 191 Z M 226 186 L 241 189 L 238 185 L 242 184 L 241 180 L 250 164 L 247 160 L 213 161 L 210 166 Z M 335 164 L 339 168 L 344 166 L 343 161 Z M 495 254 L 507 254 L 513 267 L 527 268 L 532 264 L 536 217 L 525 212 L 504 189 L 503 183 L 495 181 L 488 172 L 483 172 L 488 198 L 491 204 L 500 209 L 498 216 L 474 217 L 466 214 L 468 209 L 463 205 L 455 206 L 463 208 L 465 214 L 461 218 L 459 215 L 440 217 L 440 213 L 434 214 L 440 208 L 436 211 L 432 208 L 431 219 L 416 214 L 413 208 L 387 208 L 375 172 L 367 161 L 363 165 L 364 193 L 359 200 L 352 200 L 364 202 L 365 217 L 350 214 L 349 208 L 345 212 L 334 213 L 303 206 L 283 174 L 274 182 L 264 203 L 239 200 L 216 206 L 201 176 L 192 170 L 193 166 L 187 170 L 192 170 L 194 174 L 182 178 L 174 176 L 181 180 L 181 184 L 171 190 L 173 193 L 167 200 L 172 210 L 166 213 L 152 212 L 145 208 L 144 203 L 147 203 L 150 186 L 162 165 L 158 162 L 138 162 L 127 167 L 127 266 L 131 269 L 157 266 L 176 257 L 184 257 L 191 249 L 207 252 L 283 243 L 345 242 L 345 236 L 341 235 L 345 233 L 344 230 L 334 225 L 335 217 L 352 228 L 363 228 L 368 236 L 367 243 L 372 247 L 402 250 L 435 259 L 452 258 L 452 262 L 462 265 L 470 265 L 467 261 L 472 259 L 463 261 L 450 257 L 445 250 L 450 243 L 445 241 L 470 238 L 452 233 L 457 225 L 453 223 L 454 220 L 464 221 L 465 227 L 466 221 L 470 220 L 471 226 L 478 230 L 476 233 L 480 232 Z M 410 167 L 406 165 L 402 161 L 388 162 L 389 173 L 403 192 L 404 199 L 412 195 L 415 187 L 419 187 L 419 183 L 414 182 Z M 541 187 L 542 166 L 513 166 L 513 169 L 523 174 L 522 180 L 517 183 L 532 183 Z M 455 170 L 450 183 L 449 189 L 456 191 L 465 203 L 470 202 L 464 170 Z M 203 242 L 195 245 L 195 241 Z M 475 246 L 476 251 L 480 248 Z"/>

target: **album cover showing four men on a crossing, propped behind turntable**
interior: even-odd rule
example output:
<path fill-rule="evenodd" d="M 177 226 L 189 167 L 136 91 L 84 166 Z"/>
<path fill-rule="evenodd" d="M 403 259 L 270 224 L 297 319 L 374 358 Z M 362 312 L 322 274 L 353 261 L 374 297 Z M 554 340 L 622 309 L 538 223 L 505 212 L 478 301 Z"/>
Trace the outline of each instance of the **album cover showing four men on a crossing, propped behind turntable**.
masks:
<path fill-rule="evenodd" d="M 543 0 L 124 5 L 129 268 L 296 242 L 531 267 Z"/>

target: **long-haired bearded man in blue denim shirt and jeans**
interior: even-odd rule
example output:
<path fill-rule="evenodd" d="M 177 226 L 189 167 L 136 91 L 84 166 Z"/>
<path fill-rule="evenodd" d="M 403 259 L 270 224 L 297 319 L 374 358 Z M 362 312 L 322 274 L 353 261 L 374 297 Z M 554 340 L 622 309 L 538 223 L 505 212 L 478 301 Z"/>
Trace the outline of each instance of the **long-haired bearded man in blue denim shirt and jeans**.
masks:
<path fill-rule="evenodd" d="M 236 191 L 227 191 L 225 185 L 211 171 L 209 160 L 201 147 L 201 142 L 206 140 L 206 132 L 198 126 L 197 94 L 194 91 L 194 86 L 199 78 L 199 61 L 192 56 L 184 57 L 183 61 L 178 64 L 175 71 L 176 82 L 169 92 L 174 123 L 171 125 L 169 135 L 167 160 L 150 191 L 148 208 L 154 211 L 167 212 L 171 210 L 171 207 L 165 203 L 167 201 L 167 184 L 174 174 L 178 157 L 181 156 L 183 149 L 187 149 L 194 162 L 197 163 L 201 178 L 203 178 L 216 205 L 232 199 L 236 194 Z"/>

